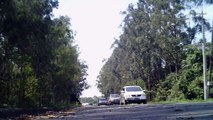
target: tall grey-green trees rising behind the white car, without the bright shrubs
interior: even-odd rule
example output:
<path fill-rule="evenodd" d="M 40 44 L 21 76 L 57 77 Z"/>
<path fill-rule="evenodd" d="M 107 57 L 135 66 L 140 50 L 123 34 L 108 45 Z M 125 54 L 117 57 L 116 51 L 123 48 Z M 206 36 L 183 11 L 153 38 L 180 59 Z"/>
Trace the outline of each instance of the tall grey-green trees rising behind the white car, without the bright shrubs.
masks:
<path fill-rule="evenodd" d="M 114 91 L 118 91 L 141 79 L 150 92 L 149 98 L 154 98 L 159 81 L 171 72 L 178 73 L 183 46 L 191 43 L 188 33 L 182 30 L 186 28 L 185 16 L 180 13 L 183 8 L 173 0 L 144 0 L 128 7 L 123 34 L 115 41 L 114 52 L 98 77 L 101 92 L 115 83 L 118 87 Z"/>

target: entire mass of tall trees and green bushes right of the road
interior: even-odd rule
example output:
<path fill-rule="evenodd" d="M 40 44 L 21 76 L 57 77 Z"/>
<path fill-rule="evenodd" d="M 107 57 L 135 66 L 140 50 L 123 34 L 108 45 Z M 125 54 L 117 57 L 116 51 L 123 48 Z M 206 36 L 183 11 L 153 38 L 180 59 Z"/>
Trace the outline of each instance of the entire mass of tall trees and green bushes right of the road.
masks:
<path fill-rule="evenodd" d="M 210 24 L 196 9 L 210 4 L 211 0 L 139 0 L 129 5 L 123 12 L 123 33 L 97 77 L 100 91 L 107 96 L 136 84 L 147 90 L 150 101 L 203 99 L 203 40 L 196 36 L 203 21 L 205 31 Z M 209 41 L 208 78 L 212 74 Z"/>

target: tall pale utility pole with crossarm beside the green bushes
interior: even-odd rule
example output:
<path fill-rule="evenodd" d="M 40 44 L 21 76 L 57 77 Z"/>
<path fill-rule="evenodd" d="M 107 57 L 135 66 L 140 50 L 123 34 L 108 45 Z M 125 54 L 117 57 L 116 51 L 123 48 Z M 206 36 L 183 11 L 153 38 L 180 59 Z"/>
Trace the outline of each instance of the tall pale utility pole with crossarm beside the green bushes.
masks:
<path fill-rule="evenodd" d="M 203 88 L 204 88 L 204 100 L 208 99 L 208 88 L 207 88 L 207 80 L 206 80 L 206 54 L 205 54 L 205 31 L 204 31 L 204 17 L 203 17 L 203 10 L 202 10 L 202 53 L 203 53 Z"/>

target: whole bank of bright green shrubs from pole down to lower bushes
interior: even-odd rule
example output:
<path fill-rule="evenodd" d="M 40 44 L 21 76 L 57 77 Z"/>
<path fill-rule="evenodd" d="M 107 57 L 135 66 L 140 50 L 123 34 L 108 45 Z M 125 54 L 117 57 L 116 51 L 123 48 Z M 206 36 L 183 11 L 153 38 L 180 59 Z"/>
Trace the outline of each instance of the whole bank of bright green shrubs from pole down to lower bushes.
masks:
<path fill-rule="evenodd" d="M 197 45 L 190 45 L 186 47 L 185 52 L 187 53 L 186 59 L 182 61 L 178 79 L 175 80 L 175 76 L 172 79 L 169 75 L 161 82 L 157 90 L 156 101 L 203 99 L 202 51 Z M 160 93 L 167 97 L 161 98 Z"/>

